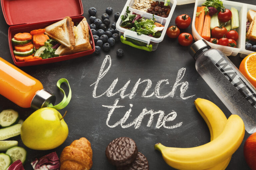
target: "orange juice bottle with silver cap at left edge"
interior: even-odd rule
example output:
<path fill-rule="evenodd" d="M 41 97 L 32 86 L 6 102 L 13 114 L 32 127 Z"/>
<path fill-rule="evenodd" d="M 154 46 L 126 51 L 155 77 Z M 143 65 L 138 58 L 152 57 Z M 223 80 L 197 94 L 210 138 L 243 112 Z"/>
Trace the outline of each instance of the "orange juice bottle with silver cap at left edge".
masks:
<path fill-rule="evenodd" d="M 40 81 L 0 57 L 0 94 L 23 108 L 40 109 L 56 97 Z"/>

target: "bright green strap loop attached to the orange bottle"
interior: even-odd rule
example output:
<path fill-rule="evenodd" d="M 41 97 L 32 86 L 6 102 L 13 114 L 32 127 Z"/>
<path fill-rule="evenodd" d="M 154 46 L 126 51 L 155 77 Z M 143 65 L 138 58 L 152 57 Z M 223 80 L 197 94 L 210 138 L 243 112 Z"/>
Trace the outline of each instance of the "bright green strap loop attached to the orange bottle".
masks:
<path fill-rule="evenodd" d="M 66 97 L 66 94 L 65 94 L 64 90 L 63 90 L 62 88 L 60 88 L 60 85 L 61 85 L 62 83 L 64 83 L 64 82 L 66 82 L 66 83 L 68 84 L 68 87 L 69 87 L 68 97 Z M 51 108 L 60 110 L 60 109 L 65 108 L 65 107 L 69 104 L 70 99 L 71 99 L 71 88 L 70 88 L 70 85 L 69 85 L 69 83 L 68 83 L 68 80 L 65 79 L 65 78 L 59 79 L 59 81 L 57 82 L 57 87 L 58 87 L 58 88 L 60 89 L 60 91 L 64 94 L 63 100 L 62 100 L 59 104 L 57 104 L 57 105 L 55 105 L 55 106 L 53 106 L 53 104 L 49 104 L 47 107 L 51 107 Z"/>

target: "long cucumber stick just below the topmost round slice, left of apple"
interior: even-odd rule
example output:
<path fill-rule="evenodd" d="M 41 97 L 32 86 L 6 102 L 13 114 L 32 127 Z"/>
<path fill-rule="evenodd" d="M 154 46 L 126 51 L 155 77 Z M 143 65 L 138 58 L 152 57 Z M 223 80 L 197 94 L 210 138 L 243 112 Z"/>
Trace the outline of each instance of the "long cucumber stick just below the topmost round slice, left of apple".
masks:
<path fill-rule="evenodd" d="M 0 140 L 8 139 L 20 134 L 21 124 L 9 126 L 7 128 L 0 129 Z"/>

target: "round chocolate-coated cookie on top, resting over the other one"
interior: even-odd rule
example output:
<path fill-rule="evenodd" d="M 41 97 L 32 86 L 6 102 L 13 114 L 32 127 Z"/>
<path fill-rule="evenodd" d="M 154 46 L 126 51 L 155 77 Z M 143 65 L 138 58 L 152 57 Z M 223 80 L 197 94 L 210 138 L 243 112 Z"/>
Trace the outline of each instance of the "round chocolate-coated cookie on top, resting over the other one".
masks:
<path fill-rule="evenodd" d="M 124 166 L 132 163 L 137 154 L 136 143 L 129 137 L 116 138 L 106 148 L 106 156 L 109 162 L 115 166 Z"/>

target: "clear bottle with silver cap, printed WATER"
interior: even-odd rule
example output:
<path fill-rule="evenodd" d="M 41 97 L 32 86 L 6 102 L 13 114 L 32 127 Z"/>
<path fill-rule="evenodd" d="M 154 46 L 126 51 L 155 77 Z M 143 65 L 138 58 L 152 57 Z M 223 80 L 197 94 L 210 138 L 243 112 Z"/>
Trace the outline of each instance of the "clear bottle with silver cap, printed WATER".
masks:
<path fill-rule="evenodd" d="M 256 131 L 256 89 L 220 50 L 205 40 L 191 45 L 196 70 L 232 114 L 244 121 L 248 133 Z"/>

